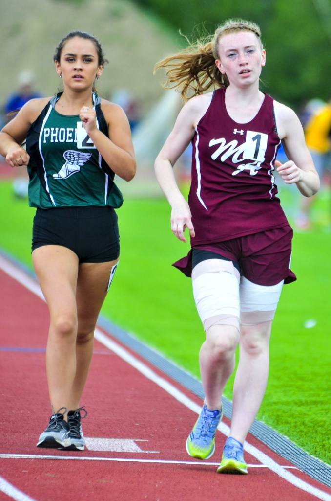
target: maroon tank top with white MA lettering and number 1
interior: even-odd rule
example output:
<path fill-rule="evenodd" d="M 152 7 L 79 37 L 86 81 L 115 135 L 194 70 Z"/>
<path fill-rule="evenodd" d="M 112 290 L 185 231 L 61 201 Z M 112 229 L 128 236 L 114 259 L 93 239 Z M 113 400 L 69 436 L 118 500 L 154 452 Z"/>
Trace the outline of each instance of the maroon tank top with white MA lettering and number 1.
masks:
<path fill-rule="evenodd" d="M 192 247 L 288 224 L 273 176 L 280 139 L 270 96 L 250 122 L 238 124 L 226 111 L 225 89 L 217 89 L 192 145 Z"/>

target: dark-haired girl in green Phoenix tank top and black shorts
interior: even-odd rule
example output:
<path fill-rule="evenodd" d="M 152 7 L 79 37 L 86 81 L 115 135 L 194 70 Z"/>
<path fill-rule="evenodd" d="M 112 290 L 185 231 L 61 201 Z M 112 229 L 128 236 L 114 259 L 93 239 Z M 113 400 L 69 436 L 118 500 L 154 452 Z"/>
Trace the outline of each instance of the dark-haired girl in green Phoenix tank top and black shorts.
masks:
<path fill-rule="evenodd" d="M 32 99 L 0 132 L 11 167 L 26 165 L 29 204 L 36 207 L 32 262 L 49 312 L 46 348 L 52 415 L 39 447 L 83 450 L 80 398 L 96 321 L 119 258 L 117 216 L 122 196 L 114 175 L 130 181 L 135 158 L 123 110 L 97 97 L 99 42 L 71 32 L 53 56 L 63 92 Z M 20 145 L 26 139 L 26 150 Z"/>

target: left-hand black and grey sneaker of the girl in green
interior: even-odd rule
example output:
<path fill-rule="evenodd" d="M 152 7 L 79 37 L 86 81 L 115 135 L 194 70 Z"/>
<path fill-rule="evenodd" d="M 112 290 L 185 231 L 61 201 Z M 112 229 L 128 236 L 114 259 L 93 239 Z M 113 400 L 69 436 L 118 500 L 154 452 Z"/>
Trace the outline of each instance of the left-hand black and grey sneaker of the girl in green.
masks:
<path fill-rule="evenodd" d="M 61 411 L 64 412 L 61 412 Z M 66 413 L 66 408 L 61 407 L 55 413 L 53 409 L 53 415 L 50 416 L 49 424 L 45 431 L 41 433 L 39 436 L 39 441 L 37 443 L 37 447 L 50 447 L 50 448 L 58 448 L 60 447 L 69 447 L 70 446 L 70 438 L 69 432 L 70 428 L 66 421 L 64 421 L 63 416 Z"/>

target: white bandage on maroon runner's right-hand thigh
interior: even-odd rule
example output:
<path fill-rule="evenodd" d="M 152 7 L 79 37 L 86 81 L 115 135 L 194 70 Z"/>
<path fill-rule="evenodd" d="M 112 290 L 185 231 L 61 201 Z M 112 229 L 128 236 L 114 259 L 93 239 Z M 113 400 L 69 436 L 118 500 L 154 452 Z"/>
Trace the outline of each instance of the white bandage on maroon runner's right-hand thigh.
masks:
<path fill-rule="evenodd" d="M 241 277 L 240 323 L 255 325 L 273 320 L 283 283 L 262 286 Z"/>

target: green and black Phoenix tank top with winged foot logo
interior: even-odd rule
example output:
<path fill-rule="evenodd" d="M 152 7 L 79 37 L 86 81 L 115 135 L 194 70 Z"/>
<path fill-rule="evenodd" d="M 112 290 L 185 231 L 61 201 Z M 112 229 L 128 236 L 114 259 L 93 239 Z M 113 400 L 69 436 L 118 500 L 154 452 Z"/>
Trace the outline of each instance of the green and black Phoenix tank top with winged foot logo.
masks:
<path fill-rule="evenodd" d="M 31 157 L 29 205 L 120 207 L 123 199 L 113 182 L 113 171 L 86 134 L 79 116 L 55 111 L 56 98 L 50 100 L 27 134 L 26 151 Z M 97 126 L 107 135 L 99 98 L 94 100 L 94 108 Z"/>

